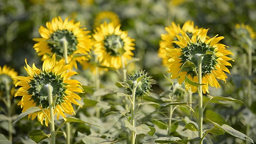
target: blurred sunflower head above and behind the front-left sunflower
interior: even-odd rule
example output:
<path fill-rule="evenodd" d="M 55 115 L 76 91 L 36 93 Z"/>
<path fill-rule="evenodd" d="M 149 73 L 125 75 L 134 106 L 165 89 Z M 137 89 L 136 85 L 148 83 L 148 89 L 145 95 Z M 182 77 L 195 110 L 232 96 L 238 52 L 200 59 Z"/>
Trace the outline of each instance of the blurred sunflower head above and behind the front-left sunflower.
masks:
<path fill-rule="evenodd" d="M 85 56 L 74 56 L 75 54 L 88 54 L 92 47 L 91 36 L 87 35 L 90 31 L 80 28 L 80 22 L 68 21 L 68 17 L 63 21 L 60 16 L 54 17 L 52 22 L 46 22 L 46 28 L 40 26 L 39 33 L 42 38 L 33 38 L 38 42 L 33 48 L 45 60 L 49 55 L 57 54 L 64 59 L 64 49 L 61 46 L 65 38 L 68 42 L 68 62 L 70 69 L 73 66 L 77 69 L 77 63 L 86 60 Z"/>

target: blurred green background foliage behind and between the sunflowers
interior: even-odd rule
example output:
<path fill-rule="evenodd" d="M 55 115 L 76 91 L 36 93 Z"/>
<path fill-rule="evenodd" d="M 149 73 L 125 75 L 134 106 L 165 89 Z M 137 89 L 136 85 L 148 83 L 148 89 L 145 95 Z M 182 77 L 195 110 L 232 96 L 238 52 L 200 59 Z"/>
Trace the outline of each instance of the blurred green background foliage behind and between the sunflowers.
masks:
<path fill-rule="evenodd" d="M 221 88 L 218 90 L 210 88 L 209 91 L 212 96 L 232 97 L 242 100 L 245 104 L 210 104 L 207 106 L 204 115 L 218 120 L 219 124 L 229 124 L 236 130 L 253 138 L 254 142 L 256 141 L 255 44 L 252 51 L 252 76 L 249 77 L 246 51 L 234 36 L 236 23 L 249 24 L 254 30 L 256 29 L 255 0 L 0 0 L 0 66 L 5 64 L 11 66 L 15 68 L 20 76 L 24 76 L 25 58 L 28 59 L 30 65 L 32 63 L 35 63 L 36 66 L 42 65 L 40 57 L 37 56 L 33 48 L 36 42 L 32 41 L 32 38 L 40 37 L 38 32 L 40 26 L 45 26 L 46 22 L 52 20 L 55 16 L 61 16 L 62 19 L 69 16 L 70 19 L 74 19 L 76 22 L 80 21 L 82 27 L 86 27 L 93 32 L 95 16 L 102 11 L 112 11 L 118 14 L 122 24 L 121 29 L 128 30 L 128 35 L 136 40 L 136 50 L 133 52 L 135 57 L 140 58 L 140 60 L 133 64 L 134 68 L 131 67 L 128 72 L 146 70 L 156 83 L 152 87 L 152 95 L 145 96 L 144 101 L 161 104 L 164 103 L 161 98 L 168 98 L 169 93 L 177 90 L 177 88 L 174 88 L 176 86 L 175 80 L 173 80 L 174 85 L 172 85 L 170 80 L 164 78 L 163 75 L 169 77 L 169 74 L 166 73 L 167 68 L 162 66 L 161 59 L 158 58 L 160 35 L 166 33 L 164 30 L 166 26 L 170 25 L 171 22 L 182 26 L 187 20 L 193 20 L 199 28 L 210 28 L 208 31 L 210 37 L 216 34 L 224 36 L 222 44 L 229 46 L 229 50 L 234 53 L 232 57 L 235 62 L 231 62 L 232 67 L 229 68 L 231 75 L 228 75 L 226 84 L 220 82 Z M 83 72 L 81 68 L 78 68 L 78 72 L 80 73 L 77 76 L 78 79 L 82 84 L 88 86 L 84 88 L 86 93 L 82 95 L 82 98 L 90 99 L 95 95 L 94 90 L 89 87 L 93 85 L 92 74 L 88 71 Z M 248 94 L 247 79 L 252 80 L 250 91 L 252 98 L 250 102 L 246 98 Z M 109 71 L 102 76 L 102 88 L 112 88 L 112 94 L 107 92 L 102 102 L 97 104 L 102 109 L 102 116 L 109 111 L 123 110 L 123 107 L 121 107 L 122 101 L 117 100 L 118 97 L 114 94 L 118 91 L 118 88 L 112 87 L 117 81 L 120 81 L 120 79 L 116 77 L 115 72 Z M 176 93 L 177 98 L 175 100 L 187 102 L 186 95 L 189 94 L 184 93 L 181 86 L 178 86 L 178 90 L 180 92 Z M 204 98 L 205 101 L 208 100 L 207 96 L 204 96 Z M 194 102 L 192 108 L 196 111 L 196 94 L 193 95 L 192 101 Z M 17 102 L 18 98 L 14 98 L 14 103 Z M 120 105 L 116 103 L 120 103 Z M 2 106 L 2 108 L 5 107 Z M 82 110 L 84 111 L 80 112 Z M 15 106 L 13 114 L 20 114 L 20 112 L 20 107 Z M 120 117 L 112 116 L 111 118 L 102 117 L 97 119 L 90 117 L 93 112 L 92 108 L 85 107 L 79 109 L 76 116 L 92 124 L 100 125 L 103 129 L 89 128 L 84 124 L 74 124 L 72 125 L 74 127 L 73 142 L 78 141 L 78 138 L 86 137 L 86 135 L 96 136 L 101 134 L 103 136 L 105 134 L 104 138 L 106 138 L 108 134 L 112 134 L 112 136 L 109 136 L 110 138 L 120 138 L 122 143 L 127 135 L 124 132 L 118 133 L 112 129 L 113 125 L 118 125 Z M 142 112 L 144 112 L 144 115 L 139 117 L 138 122 L 156 127 L 156 134 L 151 138 L 147 136 L 140 138 L 138 136 L 138 142 L 143 144 L 154 143 L 157 137 L 166 136 L 166 126 L 164 124 L 167 123 L 165 118 L 168 116 L 168 113 L 166 113 L 168 110 L 150 105 L 142 106 Z M 182 107 L 174 112 L 172 117 L 176 120 L 174 120 L 171 128 L 170 134 L 172 136 L 193 137 L 191 132 L 184 132 L 180 127 L 182 121 L 189 120 L 189 115 L 190 112 Z M 113 123 L 112 118 L 117 123 Z M 204 122 L 210 125 L 207 120 Z M 1 122 L 0 126 L 0 132 L 8 135 L 8 128 L 5 127 L 4 121 Z M 14 126 L 14 141 L 16 143 L 32 143 L 31 140 L 28 140 L 27 134 L 34 129 L 49 130 L 36 120 L 22 119 Z M 109 130 L 107 131 L 107 129 Z M 59 140 L 59 143 L 65 143 L 63 138 L 57 140 Z M 245 141 L 228 134 L 208 136 L 204 142 L 218 144 L 245 143 Z"/>

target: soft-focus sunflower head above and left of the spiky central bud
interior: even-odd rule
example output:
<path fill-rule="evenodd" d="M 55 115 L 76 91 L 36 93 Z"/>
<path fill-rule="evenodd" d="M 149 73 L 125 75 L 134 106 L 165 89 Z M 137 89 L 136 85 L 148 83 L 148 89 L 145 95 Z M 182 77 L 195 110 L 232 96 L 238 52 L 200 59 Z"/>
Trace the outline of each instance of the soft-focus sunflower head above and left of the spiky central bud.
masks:
<path fill-rule="evenodd" d="M 135 50 L 134 39 L 128 37 L 126 31 L 120 30 L 120 26 L 114 27 L 112 22 L 104 22 L 94 29 L 94 52 L 102 66 L 118 69 L 122 66 L 122 57 L 126 64 L 127 59 L 134 56 L 131 52 Z"/>

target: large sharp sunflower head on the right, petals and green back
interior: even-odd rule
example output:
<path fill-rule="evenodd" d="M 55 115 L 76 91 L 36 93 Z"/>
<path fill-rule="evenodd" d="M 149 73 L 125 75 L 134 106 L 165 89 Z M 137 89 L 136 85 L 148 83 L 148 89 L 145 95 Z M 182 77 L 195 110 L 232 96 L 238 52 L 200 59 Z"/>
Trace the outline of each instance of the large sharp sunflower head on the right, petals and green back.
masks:
<path fill-rule="evenodd" d="M 206 54 L 202 57 L 202 90 L 204 94 L 208 91 L 208 85 L 214 86 L 216 88 L 220 87 L 217 79 L 226 82 L 226 74 L 224 72 L 229 72 L 226 66 L 231 66 L 227 61 L 232 60 L 229 58 L 228 54 L 233 54 L 230 50 L 226 50 L 224 44 L 217 44 L 224 37 L 218 35 L 206 39 L 206 34 L 209 29 L 203 29 L 202 31 L 195 32 L 190 39 L 186 32 L 181 31 L 182 36 L 176 35 L 179 41 L 174 41 L 180 48 L 166 48 L 168 50 L 167 56 L 170 57 L 169 61 L 169 71 L 171 78 L 178 78 L 179 84 L 184 82 L 185 76 L 194 82 L 198 82 L 198 67 L 197 67 L 197 56 L 201 54 Z M 210 53 L 210 54 L 209 54 Z M 188 68 L 187 70 L 181 70 L 185 62 L 192 62 L 195 68 Z M 196 92 L 197 87 L 192 86 L 185 82 L 186 90 L 191 87 L 192 92 Z"/>

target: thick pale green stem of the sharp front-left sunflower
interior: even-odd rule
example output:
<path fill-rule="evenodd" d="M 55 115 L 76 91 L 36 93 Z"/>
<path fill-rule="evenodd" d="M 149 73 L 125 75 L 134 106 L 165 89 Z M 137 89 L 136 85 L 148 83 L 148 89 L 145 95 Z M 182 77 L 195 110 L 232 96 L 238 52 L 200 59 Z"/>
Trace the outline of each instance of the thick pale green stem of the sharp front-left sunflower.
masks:
<path fill-rule="evenodd" d="M 51 123 L 50 123 L 50 126 L 51 126 L 51 144 L 55 144 L 54 112 L 53 112 L 54 103 L 52 102 L 53 88 L 50 84 L 46 84 L 45 87 L 47 88 L 48 99 L 49 99 L 50 120 L 51 120 Z"/>

